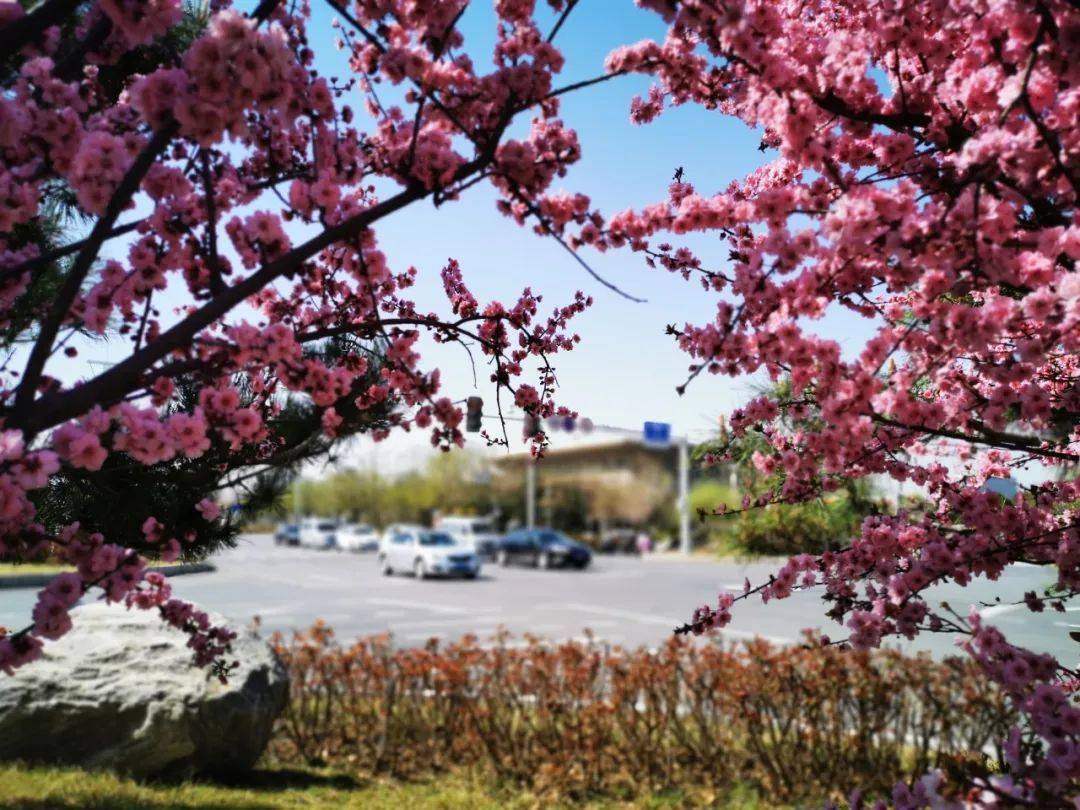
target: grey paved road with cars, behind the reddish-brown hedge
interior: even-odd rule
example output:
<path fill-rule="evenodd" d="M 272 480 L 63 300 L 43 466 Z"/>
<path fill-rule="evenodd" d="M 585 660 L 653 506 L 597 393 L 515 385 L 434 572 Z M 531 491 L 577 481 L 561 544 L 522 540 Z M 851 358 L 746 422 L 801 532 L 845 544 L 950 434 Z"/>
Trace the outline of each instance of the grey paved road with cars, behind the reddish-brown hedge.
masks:
<path fill-rule="evenodd" d="M 564 639 L 588 627 L 613 644 L 654 646 L 685 621 L 693 607 L 714 603 L 724 589 L 741 590 L 745 577 L 760 581 L 774 563 L 740 564 L 680 558 L 607 557 L 585 571 L 541 571 L 487 565 L 476 581 L 383 577 L 374 555 L 279 548 L 268 536 L 248 535 L 237 549 L 217 555 L 217 570 L 173 580 L 175 593 L 216 610 L 238 623 L 259 616 L 268 631 L 292 631 L 322 618 L 343 639 L 391 631 L 400 644 L 463 633 L 490 636 L 499 627 L 515 635 L 531 633 Z M 1050 582 L 1047 570 L 1016 567 L 997 583 L 970 589 L 941 589 L 935 596 L 967 612 L 995 596 L 1012 600 Z M 33 603 L 32 591 L 0 591 L 0 625 L 22 626 Z M 1076 664 L 1080 645 L 1068 638 L 1080 629 L 1080 606 L 1070 612 L 1034 616 L 1008 606 L 985 610 L 1016 643 L 1053 652 Z M 813 592 L 762 605 L 740 604 L 725 635 L 733 640 L 759 634 L 777 642 L 799 637 L 816 626 L 834 637 L 842 630 L 824 617 Z M 915 646 L 935 654 L 953 650 L 944 636 L 928 636 Z"/>

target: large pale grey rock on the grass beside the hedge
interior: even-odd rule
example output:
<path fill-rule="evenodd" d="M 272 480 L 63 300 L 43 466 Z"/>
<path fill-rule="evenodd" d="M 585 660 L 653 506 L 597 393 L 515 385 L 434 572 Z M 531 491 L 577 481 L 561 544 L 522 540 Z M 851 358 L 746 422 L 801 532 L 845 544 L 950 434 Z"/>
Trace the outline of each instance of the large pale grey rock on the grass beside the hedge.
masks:
<path fill-rule="evenodd" d="M 255 764 L 288 694 L 266 642 L 240 632 L 222 685 L 156 611 L 94 604 L 72 620 L 41 660 L 0 674 L 0 759 L 177 777 Z"/>

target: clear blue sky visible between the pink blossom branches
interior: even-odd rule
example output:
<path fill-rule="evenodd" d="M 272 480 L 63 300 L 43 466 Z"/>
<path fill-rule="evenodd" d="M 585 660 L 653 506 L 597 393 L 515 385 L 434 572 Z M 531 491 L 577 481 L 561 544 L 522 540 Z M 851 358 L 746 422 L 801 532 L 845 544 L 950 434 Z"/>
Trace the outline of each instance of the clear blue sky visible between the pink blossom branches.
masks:
<path fill-rule="evenodd" d="M 545 3 L 539 4 L 541 14 L 553 21 Z M 322 0 L 312 0 L 312 6 L 309 33 L 315 66 L 325 76 L 346 77 L 346 54 L 335 49 L 337 31 L 329 26 L 333 12 Z M 478 69 L 491 65 L 495 25 L 490 0 L 473 0 L 460 22 L 464 48 Z M 599 76 L 612 49 L 663 35 L 660 17 L 636 8 L 632 0 L 582 0 L 556 41 L 567 62 L 557 84 Z M 669 110 L 647 126 L 632 124 L 631 99 L 644 94 L 648 85 L 644 77 L 621 77 L 564 97 L 562 117 L 577 130 L 583 158 L 556 188 L 584 192 L 595 206 L 611 214 L 663 199 L 676 166 L 685 167 L 687 179 L 700 192 L 712 193 L 771 159 L 757 149 L 759 133 L 698 107 Z M 361 98 L 349 100 L 360 119 L 364 114 Z M 362 119 L 360 125 L 364 125 Z M 523 117 L 517 131 L 527 126 L 528 119 Z M 489 187 L 477 186 L 437 210 L 426 202 L 378 224 L 376 232 L 391 267 L 419 270 L 414 297 L 421 309 L 446 311 L 438 271 L 450 257 L 460 262 L 467 283 L 481 300 L 512 301 L 526 286 L 543 294 L 548 308 L 568 302 L 579 288 L 592 295 L 594 306 L 573 324 L 581 345 L 555 357 L 554 365 L 561 404 L 598 423 L 636 429 L 645 420 L 667 421 L 676 433 L 703 437 L 715 430 L 721 414 L 748 399 L 752 381 L 727 377 L 703 376 L 681 397 L 675 391 L 686 378 L 689 361 L 663 334 L 664 327 L 712 320 L 715 294 L 704 293 L 696 282 L 649 269 L 640 255 L 629 249 L 608 254 L 585 249 L 583 256 L 603 276 L 648 299 L 645 303 L 627 301 L 590 278 L 553 240 L 502 217 L 495 210 L 495 199 Z M 297 229 L 293 238 L 301 239 L 302 232 Z M 677 243 L 689 244 L 707 266 L 725 264 L 727 251 L 717 239 L 698 237 Z M 170 300 L 174 293 L 171 289 L 161 300 L 166 308 L 181 302 L 179 296 Z M 831 314 L 820 332 L 856 348 L 866 326 Z M 124 353 L 122 342 L 87 348 L 77 361 L 56 359 L 53 372 L 84 376 L 87 362 L 108 364 Z M 423 353 L 429 366 L 442 369 L 444 393 L 455 400 L 478 393 L 494 405 L 485 369 L 477 368 L 478 386 L 474 387 L 472 367 L 459 347 L 427 341 Z M 362 440 L 346 460 L 396 472 L 423 463 L 429 453 L 428 436 L 411 434 L 392 437 L 378 448 Z"/>

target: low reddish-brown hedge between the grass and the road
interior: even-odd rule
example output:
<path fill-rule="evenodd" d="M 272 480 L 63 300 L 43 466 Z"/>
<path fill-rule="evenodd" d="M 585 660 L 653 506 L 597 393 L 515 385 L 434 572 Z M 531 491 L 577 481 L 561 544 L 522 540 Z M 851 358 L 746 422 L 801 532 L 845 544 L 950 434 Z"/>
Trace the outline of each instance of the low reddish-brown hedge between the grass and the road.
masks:
<path fill-rule="evenodd" d="M 975 767 L 1012 721 L 967 660 L 896 651 L 505 636 L 345 647 L 321 623 L 274 642 L 293 677 L 279 760 L 397 777 L 465 767 L 548 797 L 747 782 L 786 801 L 881 793 Z"/>

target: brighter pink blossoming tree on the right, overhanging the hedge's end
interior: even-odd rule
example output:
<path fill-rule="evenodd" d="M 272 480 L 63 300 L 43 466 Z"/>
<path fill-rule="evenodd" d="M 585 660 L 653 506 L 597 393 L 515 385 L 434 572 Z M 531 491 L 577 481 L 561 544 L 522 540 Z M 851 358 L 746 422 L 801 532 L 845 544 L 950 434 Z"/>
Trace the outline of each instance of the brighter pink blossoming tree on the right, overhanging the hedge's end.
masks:
<path fill-rule="evenodd" d="M 784 381 L 784 395 L 732 419 L 735 441 L 767 440 L 755 460 L 777 482 L 745 509 L 868 475 L 928 499 L 866 519 L 840 551 L 796 556 L 768 582 L 721 595 L 684 630 L 723 627 L 752 595 L 820 588 L 855 647 L 957 633 L 1027 716 L 1004 747 L 1010 774 L 969 798 L 1062 804 L 1080 778 L 1071 662 L 1013 646 L 978 612 L 926 592 L 996 580 L 1017 563 L 1055 571 L 1052 590 L 1023 599 L 1032 611 L 1063 610 L 1080 591 L 1080 6 L 640 4 L 669 31 L 609 58 L 612 72 L 654 78 L 633 118 L 702 105 L 758 127 L 774 159 L 720 192 L 680 172 L 666 200 L 593 219 L 573 240 L 626 245 L 717 295 L 713 321 L 671 327 L 690 379 Z M 671 244 L 692 232 L 716 234 L 727 265 Z M 814 332 L 839 308 L 873 334 L 858 351 Z M 1014 473 L 1029 482 L 1015 498 L 985 485 Z M 919 805 L 933 791 L 901 786 L 894 799 Z"/>

